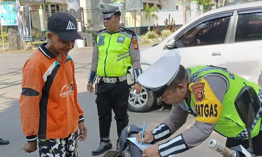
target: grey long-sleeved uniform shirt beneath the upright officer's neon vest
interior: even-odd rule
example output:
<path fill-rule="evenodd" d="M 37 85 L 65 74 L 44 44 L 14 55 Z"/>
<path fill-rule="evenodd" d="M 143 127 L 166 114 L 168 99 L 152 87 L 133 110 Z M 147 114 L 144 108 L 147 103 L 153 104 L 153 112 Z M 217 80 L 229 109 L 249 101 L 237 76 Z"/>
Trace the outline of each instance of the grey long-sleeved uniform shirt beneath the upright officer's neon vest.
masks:
<path fill-rule="evenodd" d="M 118 32 L 121 32 L 124 28 L 120 27 Z M 136 39 L 136 36 L 134 35 L 132 39 Z M 134 70 L 136 69 L 141 69 L 141 64 L 140 64 L 140 51 L 138 48 L 138 45 L 135 47 L 132 43 L 129 46 L 129 53 L 130 53 L 130 58 L 132 62 L 132 68 Z M 93 57 L 92 57 L 92 64 L 91 64 L 91 71 L 96 72 L 97 71 L 97 66 L 98 66 L 98 47 L 95 44 L 94 45 L 94 50 L 93 50 Z M 135 73 L 136 74 L 136 73 Z M 141 74 L 141 71 L 140 71 Z M 135 79 L 137 80 L 137 79 Z M 136 81 L 137 82 L 137 81 Z"/>

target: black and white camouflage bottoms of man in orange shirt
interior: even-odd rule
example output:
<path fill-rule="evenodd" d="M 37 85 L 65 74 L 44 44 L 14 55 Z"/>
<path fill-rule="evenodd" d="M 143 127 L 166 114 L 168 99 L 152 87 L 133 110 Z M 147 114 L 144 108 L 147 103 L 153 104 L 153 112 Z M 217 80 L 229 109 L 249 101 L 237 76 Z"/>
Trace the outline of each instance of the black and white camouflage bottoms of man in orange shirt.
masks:
<path fill-rule="evenodd" d="M 69 134 L 66 138 L 39 139 L 40 157 L 77 157 L 78 132 Z"/>

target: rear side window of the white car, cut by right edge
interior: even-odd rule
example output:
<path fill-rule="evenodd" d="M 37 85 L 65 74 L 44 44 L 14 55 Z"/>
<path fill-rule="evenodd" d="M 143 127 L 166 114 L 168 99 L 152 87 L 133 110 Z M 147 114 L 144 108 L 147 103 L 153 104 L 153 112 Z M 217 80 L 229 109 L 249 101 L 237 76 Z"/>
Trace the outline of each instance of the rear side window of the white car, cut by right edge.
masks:
<path fill-rule="evenodd" d="M 238 15 L 235 42 L 262 40 L 262 13 Z"/>

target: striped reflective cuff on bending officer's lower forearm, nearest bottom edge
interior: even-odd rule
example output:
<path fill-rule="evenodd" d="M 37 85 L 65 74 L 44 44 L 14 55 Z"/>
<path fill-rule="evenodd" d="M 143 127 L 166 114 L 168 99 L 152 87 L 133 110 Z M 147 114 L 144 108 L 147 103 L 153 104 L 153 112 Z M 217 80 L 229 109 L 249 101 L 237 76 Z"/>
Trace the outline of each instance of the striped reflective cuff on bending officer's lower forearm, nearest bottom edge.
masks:
<path fill-rule="evenodd" d="M 161 157 L 169 157 L 174 154 L 182 153 L 186 150 L 189 150 L 189 148 L 186 145 L 182 134 L 179 134 L 175 138 L 158 145 L 158 152 Z"/>

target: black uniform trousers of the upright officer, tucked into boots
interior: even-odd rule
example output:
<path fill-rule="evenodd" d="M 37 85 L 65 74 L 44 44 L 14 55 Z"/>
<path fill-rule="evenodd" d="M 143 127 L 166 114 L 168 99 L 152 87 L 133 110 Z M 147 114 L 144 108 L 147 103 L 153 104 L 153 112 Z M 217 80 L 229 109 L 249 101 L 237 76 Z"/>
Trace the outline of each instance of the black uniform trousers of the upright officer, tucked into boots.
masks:
<path fill-rule="evenodd" d="M 130 85 L 127 80 L 116 83 L 105 83 L 100 79 L 97 87 L 97 112 L 100 121 L 112 119 L 112 109 L 115 113 L 114 119 L 123 122 L 128 119 L 128 97 Z"/>

